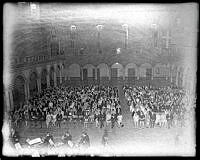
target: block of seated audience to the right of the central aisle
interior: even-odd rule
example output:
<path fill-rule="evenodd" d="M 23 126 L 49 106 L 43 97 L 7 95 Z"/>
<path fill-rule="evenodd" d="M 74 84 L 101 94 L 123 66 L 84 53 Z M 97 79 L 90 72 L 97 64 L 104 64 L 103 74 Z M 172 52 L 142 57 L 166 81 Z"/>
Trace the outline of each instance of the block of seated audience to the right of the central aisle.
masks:
<path fill-rule="evenodd" d="M 184 126 L 183 89 L 124 86 L 123 90 L 136 128 Z"/>

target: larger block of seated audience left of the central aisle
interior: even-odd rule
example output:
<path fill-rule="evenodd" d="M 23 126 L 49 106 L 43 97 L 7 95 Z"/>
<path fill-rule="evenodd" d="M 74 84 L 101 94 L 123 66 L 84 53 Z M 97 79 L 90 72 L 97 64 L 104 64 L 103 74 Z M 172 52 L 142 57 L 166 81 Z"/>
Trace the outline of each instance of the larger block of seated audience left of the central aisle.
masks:
<path fill-rule="evenodd" d="M 61 127 L 61 122 L 96 122 L 96 127 L 122 121 L 118 89 L 109 86 L 55 87 L 43 90 L 18 110 L 10 112 L 10 119 L 19 127 L 21 122 L 35 125 L 46 121 L 46 127 Z"/>

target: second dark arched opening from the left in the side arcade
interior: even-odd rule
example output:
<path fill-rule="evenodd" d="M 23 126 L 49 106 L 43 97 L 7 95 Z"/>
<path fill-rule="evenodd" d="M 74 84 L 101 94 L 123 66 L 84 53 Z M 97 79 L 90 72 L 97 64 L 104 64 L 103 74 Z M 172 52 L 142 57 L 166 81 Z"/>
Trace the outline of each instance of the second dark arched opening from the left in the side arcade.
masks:
<path fill-rule="evenodd" d="M 32 72 L 29 79 L 30 79 L 30 82 L 29 82 L 30 96 L 33 97 L 38 92 L 36 72 Z"/>

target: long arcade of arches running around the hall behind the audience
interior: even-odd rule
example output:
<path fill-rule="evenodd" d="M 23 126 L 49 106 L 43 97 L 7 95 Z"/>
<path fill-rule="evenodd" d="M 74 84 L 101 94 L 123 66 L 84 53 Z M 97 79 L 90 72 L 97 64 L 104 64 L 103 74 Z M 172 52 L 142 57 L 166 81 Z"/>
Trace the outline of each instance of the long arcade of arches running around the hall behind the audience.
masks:
<path fill-rule="evenodd" d="M 19 107 L 26 100 L 41 92 L 47 87 L 87 84 L 151 84 L 151 85 L 175 85 L 185 88 L 189 93 L 194 92 L 195 77 L 189 67 L 144 63 L 136 65 L 128 63 L 122 65 L 114 63 L 108 65 L 101 63 L 70 64 L 64 62 L 35 66 L 35 69 L 26 69 L 15 73 L 12 85 L 4 94 L 7 109 Z M 159 81 L 159 83 L 158 83 Z"/>

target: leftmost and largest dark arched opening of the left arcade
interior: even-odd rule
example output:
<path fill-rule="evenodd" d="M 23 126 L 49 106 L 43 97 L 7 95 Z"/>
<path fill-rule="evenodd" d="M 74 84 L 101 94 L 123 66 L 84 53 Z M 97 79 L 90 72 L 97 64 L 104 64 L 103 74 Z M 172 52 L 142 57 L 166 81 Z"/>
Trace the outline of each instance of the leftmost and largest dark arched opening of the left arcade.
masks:
<path fill-rule="evenodd" d="M 23 76 L 17 76 L 14 80 L 13 104 L 19 108 L 25 101 L 25 80 Z"/>

